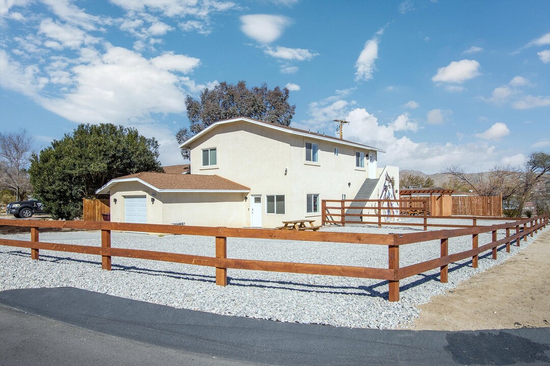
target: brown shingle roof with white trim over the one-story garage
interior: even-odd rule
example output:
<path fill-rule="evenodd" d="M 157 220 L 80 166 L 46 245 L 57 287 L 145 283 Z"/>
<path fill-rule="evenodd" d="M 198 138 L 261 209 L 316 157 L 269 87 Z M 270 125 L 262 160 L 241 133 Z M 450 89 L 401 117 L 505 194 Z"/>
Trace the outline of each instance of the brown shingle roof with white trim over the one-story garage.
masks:
<path fill-rule="evenodd" d="M 222 178 L 216 175 L 207 176 L 201 174 L 167 174 L 141 172 L 113 179 L 111 182 L 107 183 L 104 187 L 99 189 L 98 193 L 109 192 L 109 188 L 113 184 L 121 181 L 126 181 L 128 179 L 139 179 L 140 181 L 145 182 L 158 190 L 250 190 L 250 188 L 245 187 L 244 185 L 229 181 L 229 179 Z"/>

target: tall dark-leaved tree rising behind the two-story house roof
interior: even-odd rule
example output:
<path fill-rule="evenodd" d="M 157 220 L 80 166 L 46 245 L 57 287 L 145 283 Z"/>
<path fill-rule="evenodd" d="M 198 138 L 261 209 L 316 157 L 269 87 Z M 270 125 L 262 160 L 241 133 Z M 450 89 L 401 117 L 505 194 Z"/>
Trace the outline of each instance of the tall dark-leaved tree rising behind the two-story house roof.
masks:
<path fill-rule="evenodd" d="M 200 100 L 188 97 L 185 100 L 189 128 L 182 128 L 176 134 L 182 144 L 212 123 L 234 117 L 250 117 L 260 121 L 289 126 L 294 116 L 295 105 L 288 103 L 287 88 L 268 89 L 265 83 L 249 89 L 245 81 L 237 85 L 219 83 L 213 89 L 205 89 Z M 189 150 L 182 149 L 182 156 L 189 159 Z"/>

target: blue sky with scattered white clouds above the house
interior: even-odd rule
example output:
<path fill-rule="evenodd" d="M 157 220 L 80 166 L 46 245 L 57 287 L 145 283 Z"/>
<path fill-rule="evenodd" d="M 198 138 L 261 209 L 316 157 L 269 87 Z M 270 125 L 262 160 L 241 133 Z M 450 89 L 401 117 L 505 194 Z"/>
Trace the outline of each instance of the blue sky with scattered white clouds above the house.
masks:
<path fill-rule="evenodd" d="M 0 130 L 132 126 L 183 164 L 185 96 L 287 86 L 292 126 L 439 172 L 550 152 L 550 1 L 0 0 Z"/>

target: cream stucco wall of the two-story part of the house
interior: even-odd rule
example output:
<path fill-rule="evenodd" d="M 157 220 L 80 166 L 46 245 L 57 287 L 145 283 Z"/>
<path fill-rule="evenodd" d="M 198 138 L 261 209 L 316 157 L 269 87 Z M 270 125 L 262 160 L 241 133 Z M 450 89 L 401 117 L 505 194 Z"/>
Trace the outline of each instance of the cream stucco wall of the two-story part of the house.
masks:
<path fill-rule="evenodd" d="M 305 143 L 317 143 L 319 161 L 305 160 Z M 339 155 L 334 155 L 334 148 Z M 251 188 L 251 195 L 262 195 L 262 227 L 281 226 L 282 221 L 311 218 L 321 223 L 321 213 L 306 212 L 306 195 L 323 199 L 353 199 L 368 178 L 368 149 L 356 149 L 338 142 L 305 138 L 248 122 L 220 125 L 190 145 L 191 173 L 218 174 Z M 202 149 L 217 149 L 217 165 L 202 166 Z M 355 151 L 365 153 L 365 167 L 355 167 Z M 376 151 L 374 167 L 377 172 Z M 287 173 L 285 174 L 285 170 Z M 373 174 L 370 178 L 378 178 Z M 350 183 L 348 185 L 348 183 Z M 285 195 L 285 214 L 266 213 L 266 195 Z M 250 226 L 250 203 L 246 202 L 244 221 Z M 205 206 L 206 207 L 206 206 Z M 319 202 L 321 207 L 321 202 Z M 202 210 L 202 209 L 201 209 Z"/>

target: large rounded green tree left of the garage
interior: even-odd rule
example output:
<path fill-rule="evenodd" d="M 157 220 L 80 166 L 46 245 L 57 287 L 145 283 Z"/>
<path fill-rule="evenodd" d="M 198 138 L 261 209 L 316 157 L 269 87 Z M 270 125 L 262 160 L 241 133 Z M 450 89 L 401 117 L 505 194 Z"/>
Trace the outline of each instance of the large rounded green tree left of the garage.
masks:
<path fill-rule="evenodd" d="M 34 194 L 53 218 L 82 215 L 82 199 L 92 198 L 113 178 L 141 171 L 162 171 L 155 138 L 135 128 L 79 125 L 34 154 L 29 169 Z"/>

